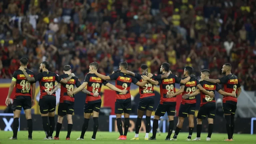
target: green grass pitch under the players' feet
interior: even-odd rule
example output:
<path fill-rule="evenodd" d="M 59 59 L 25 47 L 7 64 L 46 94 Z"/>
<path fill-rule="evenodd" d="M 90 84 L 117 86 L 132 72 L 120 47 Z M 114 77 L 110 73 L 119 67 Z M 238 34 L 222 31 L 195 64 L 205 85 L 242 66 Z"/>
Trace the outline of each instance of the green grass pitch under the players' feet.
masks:
<path fill-rule="evenodd" d="M 201 134 L 201 141 L 185 141 L 188 133 L 179 133 L 177 141 L 165 141 L 164 139 L 167 136 L 167 133 L 157 133 L 156 141 L 155 140 L 144 140 L 145 133 L 139 133 L 140 140 L 130 140 L 134 137 L 134 133 L 127 134 L 127 140 L 116 140 L 119 136 L 118 132 L 97 132 L 96 140 L 91 140 L 93 132 L 86 132 L 84 136 L 84 140 L 76 140 L 81 132 L 80 131 L 72 131 L 70 135 L 70 140 L 66 140 L 66 131 L 60 132 L 60 140 L 43 140 L 45 137 L 45 133 L 43 131 L 33 131 L 33 140 L 28 140 L 28 132 L 27 131 L 18 131 L 18 140 L 9 140 L 12 136 L 12 131 L 0 131 L 0 144 L 59 144 L 59 143 L 77 143 L 77 144 L 159 144 L 161 143 L 168 143 L 168 144 L 187 144 L 187 143 L 233 143 L 233 144 L 253 144 L 256 141 L 255 135 L 250 134 L 234 134 L 234 141 L 233 142 L 225 142 L 227 138 L 227 134 L 222 133 L 213 133 L 211 137 L 211 141 L 205 141 L 207 137 L 207 133 Z M 55 131 L 53 136 L 55 135 Z M 152 133 L 149 134 L 152 136 Z M 173 136 L 173 134 L 172 134 Z M 171 136 L 171 137 L 172 137 Z M 192 139 L 196 137 L 196 132 L 193 133 Z"/>

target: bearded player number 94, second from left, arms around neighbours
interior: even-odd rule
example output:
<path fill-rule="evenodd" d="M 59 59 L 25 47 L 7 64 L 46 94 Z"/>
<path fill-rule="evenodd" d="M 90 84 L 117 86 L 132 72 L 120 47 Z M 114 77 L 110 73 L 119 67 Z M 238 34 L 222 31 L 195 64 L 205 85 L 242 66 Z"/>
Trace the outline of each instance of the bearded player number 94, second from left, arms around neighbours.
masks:
<path fill-rule="evenodd" d="M 40 113 L 43 120 L 43 128 L 46 134 L 44 140 L 52 140 L 52 134 L 55 127 L 55 108 L 56 108 L 56 95 L 55 92 L 51 95 L 48 95 L 47 92 L 51 91 L 55 87 L 55 80 L 59 83 L 66 84 L 72 77 L 75 75 L 71 73 L 69 77 L 66 79 L 60 78 L 56 73 L 48 71 L 50 67 L 49 62 L 43 61 L 40 64 L 40 73 L 35 75 L 34 77 L 29 77 L 28 73 L 23 67 L 20 67 L 26 79 L 29 82 L 37 82 L 39 81 L 40 86 L 40 100 L 39 107 Z M 48 116 L 49 116 L 49 124 L 48 124 Z"/>

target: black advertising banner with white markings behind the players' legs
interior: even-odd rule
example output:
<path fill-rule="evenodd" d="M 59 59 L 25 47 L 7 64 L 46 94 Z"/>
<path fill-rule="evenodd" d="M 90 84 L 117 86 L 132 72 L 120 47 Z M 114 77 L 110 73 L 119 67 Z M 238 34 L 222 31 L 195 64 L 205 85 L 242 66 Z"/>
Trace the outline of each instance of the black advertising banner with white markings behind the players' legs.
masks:
<path fill-rule="evenodd" d="M 55 116 L 55 121 L 57 122 L 57 115 Z M 81 131 L 84 117 L 73 115 L 73 131 Z M 130 128 L 129 132 L 135 131 L 135 123 L 136 123 L 137 116 L 131 115 L 130 116 Z M 40 115 L 32 115 L 33 120 L 33 130 L 43 130 L 42 126 L 42 118 Z M 0 128 L 1 130 L 12 130 L 12 121 L 13 121 L 13 115 L 12 116 L 2 116 L 0 115 Z M 124 118 L 122 118 L 122 121 L 124 122 Z M 178 121 L 178 117 L 174 118 L 174 125 L 176 127 Z M 160 120 L 159 120 L 160 122 Z M 196 118 L 194 119 L 195 126 L 196 126 Z M 142 119 L 141 124 L 141 132 L 145 132 L 145 118 Z M 165 132 L 168 129 L 168 121 L 167 123 L 163 123 L 162 127 L 160 128 L 162 132 Z M 153 124 L 153 116 L 151 117 L 151 128 Z M 214 119 L 214 129 L 213 132 L 215 133 L 226 133 L 226 120 L 224 117 L 218 117 Z M 202 125 L 203 129 L 202 132 L 208 132 L 208 122 L 207 120 L 203 121 Z M 251 131 L 251 118 L 236 118 L 235 119 L 235 133 L 250 133 Z M 255 129 L 255 128 L 254 128 Z M 20 130 L 27 130 L 27 120 L 25 118 L 25 115 L 21 115 L 20 117 Z M 63 119 L 62 124 L 62 131 L 67 131 L 67 119 L 66 117 Z M 91 118 L 89 121 L 89 127 L 87 129 L 88 131 L 93 131 L 93 119 Z M 98 131 L 109 131 L 109 132 L 117 132 L 116 128 L 116 119 L 115 115 L 110 116 L 99 116 L 99 128 Z M 185 121 L 183 123 L 183 128 L 181 129 L 181 132 L 188 132 L 188 118 L 185 118 Z"/>

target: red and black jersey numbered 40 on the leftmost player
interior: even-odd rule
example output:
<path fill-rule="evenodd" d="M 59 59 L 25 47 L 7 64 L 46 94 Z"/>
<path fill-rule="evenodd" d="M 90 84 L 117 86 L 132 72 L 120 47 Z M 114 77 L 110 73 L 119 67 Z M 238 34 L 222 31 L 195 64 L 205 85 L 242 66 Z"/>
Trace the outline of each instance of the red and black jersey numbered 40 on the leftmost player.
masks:
<path fill-rule="evenodd" d="M 25 68 L 27 74 L 30 77 L 34 77 L 34 72 L 32 72 L 31 70 Z M 21 70 L 16 70 L 13 75 L 12 75 L 12 81 L 16 81 L 15 83 L 15 95 L 14 95 L 14 99 L 17 96 L 30 96 L 31 95 L 31 84 L 29 81 L 27 81 L 25 75 L 23 74 L 23 72 Z"/>

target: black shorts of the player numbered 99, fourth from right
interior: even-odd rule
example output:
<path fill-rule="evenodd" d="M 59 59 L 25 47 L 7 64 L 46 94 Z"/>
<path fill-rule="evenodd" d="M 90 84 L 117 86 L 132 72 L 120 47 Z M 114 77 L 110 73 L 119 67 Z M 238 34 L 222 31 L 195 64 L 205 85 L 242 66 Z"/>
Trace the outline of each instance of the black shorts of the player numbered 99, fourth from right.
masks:
<path fill-rule="evenodd" d="M 168 116 L 175 116 L 176 110 L 176 102 L 170 104 L 158 104 L 156 108 L 155 115 L 157 116 L 164 116 L 165 112 L 167 112 Z"/>

